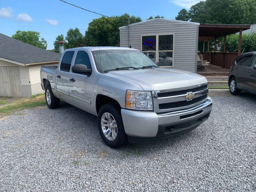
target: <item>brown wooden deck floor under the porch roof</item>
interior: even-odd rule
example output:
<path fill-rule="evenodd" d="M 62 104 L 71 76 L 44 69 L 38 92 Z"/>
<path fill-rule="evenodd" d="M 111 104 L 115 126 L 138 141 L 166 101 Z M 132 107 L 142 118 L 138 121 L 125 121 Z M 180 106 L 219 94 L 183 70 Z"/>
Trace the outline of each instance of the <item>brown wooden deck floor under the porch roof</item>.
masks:
<path fill-rule="evenodd" d="M 229 70 L 216 65 L 205 66 L 205 70 L 198 70 L 197 74 L 203 76 L 228 76 Z"/>

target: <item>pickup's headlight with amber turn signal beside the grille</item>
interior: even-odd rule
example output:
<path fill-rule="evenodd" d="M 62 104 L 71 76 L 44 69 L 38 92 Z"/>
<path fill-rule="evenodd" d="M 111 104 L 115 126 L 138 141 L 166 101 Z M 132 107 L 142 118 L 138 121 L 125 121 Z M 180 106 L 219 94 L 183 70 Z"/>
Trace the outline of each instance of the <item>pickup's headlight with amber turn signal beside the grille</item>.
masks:
<path fill-rule="evenodd" d="M 151 92 L 126 90 L 125 104 L 127 109 L 153 110 Z"/>

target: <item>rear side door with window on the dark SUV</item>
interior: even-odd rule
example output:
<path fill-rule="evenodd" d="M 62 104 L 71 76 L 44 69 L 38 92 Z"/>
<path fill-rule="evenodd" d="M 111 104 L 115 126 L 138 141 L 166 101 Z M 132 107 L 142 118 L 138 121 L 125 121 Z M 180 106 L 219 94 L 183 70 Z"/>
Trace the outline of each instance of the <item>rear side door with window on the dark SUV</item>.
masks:
<path fill-rule="evenodd" d="M 238 68 L 236 71 L 237 84 L 244 88 L 250 87 L 248 84 L 248 76 L 249 76 L 251 65 L 252 65 L 252 58 L 253 58 L 253 55 L 245 55 L 237 65 L 237 68 Z"/>

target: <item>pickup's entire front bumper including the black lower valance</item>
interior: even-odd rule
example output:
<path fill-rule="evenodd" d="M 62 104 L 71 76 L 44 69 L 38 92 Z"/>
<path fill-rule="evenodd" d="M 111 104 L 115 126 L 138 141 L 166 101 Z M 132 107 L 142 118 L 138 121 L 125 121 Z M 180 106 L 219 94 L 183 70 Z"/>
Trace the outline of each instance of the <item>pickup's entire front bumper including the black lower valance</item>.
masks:
<path fill-rule="evenodd" d="M 153 111 L 121 109 L 124 130 L 133 143 L 156 141 L 189 132 L 206 121 L 212 99 L 196 107 L 156 114 Z"/>

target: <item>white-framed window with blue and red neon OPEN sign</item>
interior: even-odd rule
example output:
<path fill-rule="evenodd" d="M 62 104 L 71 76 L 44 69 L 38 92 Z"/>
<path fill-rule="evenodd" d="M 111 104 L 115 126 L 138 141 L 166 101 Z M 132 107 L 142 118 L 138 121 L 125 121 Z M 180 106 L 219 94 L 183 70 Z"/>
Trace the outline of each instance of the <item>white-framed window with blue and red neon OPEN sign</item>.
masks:
<path fill-rule="evenodd" d="M 161 67 L 173 67 L 174 34 L 142 35 L 141 51 Z"/>

